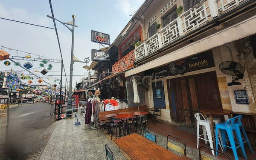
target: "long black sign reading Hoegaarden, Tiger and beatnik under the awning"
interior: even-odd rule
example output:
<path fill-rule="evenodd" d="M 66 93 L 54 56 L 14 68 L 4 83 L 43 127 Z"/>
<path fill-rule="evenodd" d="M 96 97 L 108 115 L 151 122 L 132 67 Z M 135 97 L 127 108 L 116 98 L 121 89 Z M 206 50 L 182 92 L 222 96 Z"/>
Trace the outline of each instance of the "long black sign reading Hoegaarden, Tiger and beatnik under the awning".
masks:
<path fill-rule="evenodd" d="M 177 74 L 183 75 L 186 72 L 207 69 L 214 66 L 212 51 L 206 51 L 183 60 L 176 60 L 157 69 L 147 70 L 144 73 L 145 75 L 151 75 L 153 78 L 160 78 L 162 76 L 175 76 Z"/>

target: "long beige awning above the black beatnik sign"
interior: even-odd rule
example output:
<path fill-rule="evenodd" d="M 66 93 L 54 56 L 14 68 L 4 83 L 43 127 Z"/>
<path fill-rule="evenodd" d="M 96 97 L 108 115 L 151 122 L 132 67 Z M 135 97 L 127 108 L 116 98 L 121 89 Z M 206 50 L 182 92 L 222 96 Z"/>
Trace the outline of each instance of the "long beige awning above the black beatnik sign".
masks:
<path fill-rule="evenodd" d="M 130 69 L 125 72 L 125 77 L 146 71 L 148 69 L 153 69 L 158 66 L 173 62 L 175 60 L 189 57 L 194 54 L 198 54 L 203 51 L 207 51 L 209 49 L 221 46 L 225 43 L 230 43 L 235 40 L 239 40 L 241 38 L 256 34 L 256 27 L 252 27 L 255 26 L 255 24 L 256 16 L 250 17 L 249 19 L 244 20 L 241 23 L 237 23 L 234 26 L 219 31 L 194 43 L 191 43 L 162 57 L 156 58 L 141 66 L 135 67 L 134 69 Z"/>

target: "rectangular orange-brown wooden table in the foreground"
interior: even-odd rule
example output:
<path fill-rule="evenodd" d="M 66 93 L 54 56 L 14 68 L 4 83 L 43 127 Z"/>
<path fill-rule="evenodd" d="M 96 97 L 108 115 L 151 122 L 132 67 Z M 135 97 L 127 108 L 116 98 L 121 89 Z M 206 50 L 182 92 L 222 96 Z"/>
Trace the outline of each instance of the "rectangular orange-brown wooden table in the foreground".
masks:
<path fill-rule="evenodd" d="M 137 133 L 115 139 L 114 142 L 128 154 L 132 160 L 186 160 L 182 159 L 186 157 L 179 157 Z"/>

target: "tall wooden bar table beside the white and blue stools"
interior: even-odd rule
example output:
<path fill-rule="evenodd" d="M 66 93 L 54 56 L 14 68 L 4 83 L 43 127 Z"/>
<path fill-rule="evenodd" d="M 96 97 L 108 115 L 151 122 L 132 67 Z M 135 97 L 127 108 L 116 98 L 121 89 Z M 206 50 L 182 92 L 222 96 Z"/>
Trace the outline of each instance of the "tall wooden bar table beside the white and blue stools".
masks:
<path fill-rule="evenodd" d="M 215 134 L 214 134 L 212 116 L 213 115 L 227 115 L 229 118 L 231 118 L 233 111 L 230 111 L 228 109 L 201 109 L 201 112 L 204 113 L 205 118 L 207 118 L 207 114 L 210 117 L 210 122 L 211 122 L 210 126 L 211 126 L 211 131 L 212 131 L 213 147 L 215 148 L 216 144 L 215 144 Z"/>

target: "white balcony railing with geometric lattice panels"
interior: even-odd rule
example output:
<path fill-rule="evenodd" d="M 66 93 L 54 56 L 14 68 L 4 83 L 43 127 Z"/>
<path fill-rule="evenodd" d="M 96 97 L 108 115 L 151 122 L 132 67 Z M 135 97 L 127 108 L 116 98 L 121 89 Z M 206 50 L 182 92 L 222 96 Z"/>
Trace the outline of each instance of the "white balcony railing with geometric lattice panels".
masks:
<path fill-rule="evenodd" d="M 213 17 L 219 16 L 248 0 L 203 0 L 195 7 L 181 14 L 159 32 L 134 50 L 135 59 L 140 60 L 154 51 L 173 42 L 180 36 L 198 29 Z"/>

